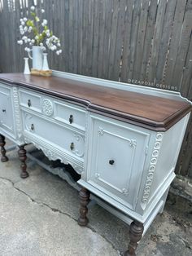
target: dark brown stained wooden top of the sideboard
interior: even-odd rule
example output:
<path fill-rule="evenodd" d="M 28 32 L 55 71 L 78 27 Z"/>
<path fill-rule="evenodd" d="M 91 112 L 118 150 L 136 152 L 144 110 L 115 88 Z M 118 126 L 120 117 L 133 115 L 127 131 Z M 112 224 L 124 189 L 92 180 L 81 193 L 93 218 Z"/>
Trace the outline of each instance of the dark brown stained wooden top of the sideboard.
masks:
<path fill-rule="evenodd" d="M 63 77 L 2 73 L 0 81 L 59 96 L 74 104 L 85 105 L 90 111 L 151 130 L 168 130 L 191 110 L 191 104 L 186 99 L 164 99 Z"/>

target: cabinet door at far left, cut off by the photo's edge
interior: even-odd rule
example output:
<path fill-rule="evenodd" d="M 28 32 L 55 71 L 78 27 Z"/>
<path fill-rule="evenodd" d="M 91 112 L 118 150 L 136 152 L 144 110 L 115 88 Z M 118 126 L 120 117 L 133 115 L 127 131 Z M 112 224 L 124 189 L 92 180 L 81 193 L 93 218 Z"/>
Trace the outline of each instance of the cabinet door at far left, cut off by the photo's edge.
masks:
<path fill-rule="evenodd" d="M 14 118 L 11 102 L 11 88 L 0 84 L 0 127 L 14 135 Z"/>

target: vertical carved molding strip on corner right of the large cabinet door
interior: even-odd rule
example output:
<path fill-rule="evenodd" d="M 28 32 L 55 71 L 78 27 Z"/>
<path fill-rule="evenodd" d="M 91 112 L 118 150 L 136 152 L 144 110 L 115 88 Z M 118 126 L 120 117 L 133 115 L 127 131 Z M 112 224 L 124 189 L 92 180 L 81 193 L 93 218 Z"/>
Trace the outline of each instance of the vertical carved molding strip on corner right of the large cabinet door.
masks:
<path fill-rule="evenodd" d="M 153 181 L 156 164 L 157 164 L 157 160 L 159 157 L 159 149 L 161 146 L 162 139 L 163 139 L 163 134 L 161 134 L 161 133 L 158 133 L 155 137 L 155 143 L 154 143 L 154 148 L 153 148 L 153 152 L 151 155 L 150 167 L 148 170 L 148 174 L 146 176 L 146 184 L 145 184 L 145 188 L 144 188 L 144 191 L 142 194 L 142 209 L 143 210 L 146 208 L 146 204 L 147 204 L 148 198 L 150 196 L 151 184 Z"/>

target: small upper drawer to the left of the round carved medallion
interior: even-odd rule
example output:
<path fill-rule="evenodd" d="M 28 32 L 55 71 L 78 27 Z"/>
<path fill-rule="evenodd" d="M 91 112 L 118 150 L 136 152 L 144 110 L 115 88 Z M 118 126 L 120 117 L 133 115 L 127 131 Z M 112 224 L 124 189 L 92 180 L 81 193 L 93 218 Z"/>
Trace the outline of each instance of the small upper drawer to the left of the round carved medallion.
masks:
<path fill-rule="evenodd" d="M 19 90 L 19 92 L 21 106 L 41 113 L 41 96 L 33 93 L 33 91 Z"/>

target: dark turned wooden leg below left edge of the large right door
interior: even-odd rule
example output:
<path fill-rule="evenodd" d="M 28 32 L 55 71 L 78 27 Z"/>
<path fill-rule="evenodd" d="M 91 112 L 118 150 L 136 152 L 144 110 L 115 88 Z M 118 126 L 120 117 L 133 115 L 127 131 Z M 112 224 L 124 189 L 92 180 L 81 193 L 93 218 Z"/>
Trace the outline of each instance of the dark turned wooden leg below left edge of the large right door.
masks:
<path fill-rule="evenodd" d="M 78 219 L 78 224 L 80 226 L 86 226 L 89 222 L 86 214 L 88 213 L 87 205 L 89 204 L 90 192 L 86 188 L 81 188 L 79 193 L 80 196 L 80 218 Z"/>

